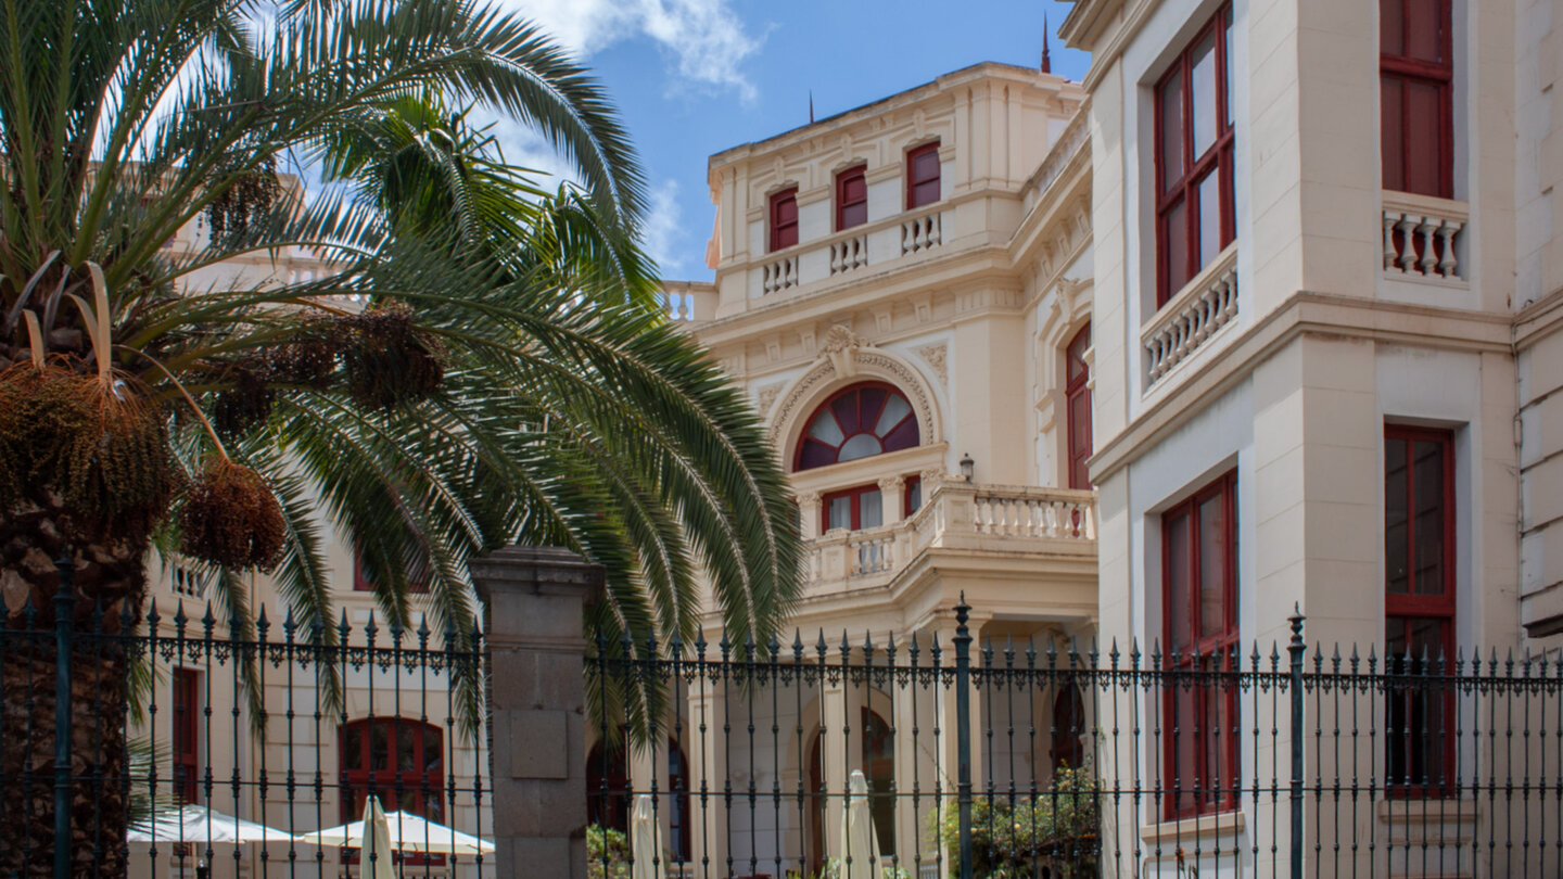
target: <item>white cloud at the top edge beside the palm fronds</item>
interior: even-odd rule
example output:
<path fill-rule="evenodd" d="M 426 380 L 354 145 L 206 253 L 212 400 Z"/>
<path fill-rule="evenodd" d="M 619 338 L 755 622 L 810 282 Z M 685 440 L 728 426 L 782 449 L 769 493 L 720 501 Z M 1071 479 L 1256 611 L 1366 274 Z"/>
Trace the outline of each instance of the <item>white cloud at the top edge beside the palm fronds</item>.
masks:
<path fill-rule="evenodd" d="M 566 48 L 589 56 L 614 42 L 650 38 L 677 59 L 675 83 L 730 88 L 753 100 L 755 86 L 739 69 L 760 48 L 744 31 L 730 0 L 503 0 L 536 20 Z"/>

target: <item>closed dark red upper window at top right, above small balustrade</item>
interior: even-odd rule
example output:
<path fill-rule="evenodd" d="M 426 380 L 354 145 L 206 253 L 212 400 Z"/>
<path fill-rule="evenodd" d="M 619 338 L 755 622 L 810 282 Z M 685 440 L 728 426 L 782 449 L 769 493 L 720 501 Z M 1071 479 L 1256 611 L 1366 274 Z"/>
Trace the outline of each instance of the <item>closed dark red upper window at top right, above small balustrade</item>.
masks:
<path fill-rule="evenodd" d="M 1379 0 L 1385 189 L 1454 197 L 1452 13 L 1450 0 Z M 1425 99 L 1432 99 L 1432 113 Z M 1427 136 L 1429 128 L 1433 136 Z"/>

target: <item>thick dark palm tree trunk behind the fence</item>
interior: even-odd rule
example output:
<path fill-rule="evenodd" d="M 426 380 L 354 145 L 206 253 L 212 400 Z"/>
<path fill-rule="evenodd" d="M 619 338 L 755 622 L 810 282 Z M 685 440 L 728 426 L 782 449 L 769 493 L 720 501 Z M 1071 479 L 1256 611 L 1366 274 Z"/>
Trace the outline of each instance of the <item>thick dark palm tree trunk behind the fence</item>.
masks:
<path fill-rule="evenodd" d="M 0 515 L 0 876 L 55 874 L 56 597 L 66 574 L 70 876 L 123 876 L 130 805 L 128 633 L 145 594 L 142 540 L 75 547 L 52 497 Z M 80 532 L 78 532 L 80 533 Z M 69 555 L 70 569 L 52 558 Z"/>

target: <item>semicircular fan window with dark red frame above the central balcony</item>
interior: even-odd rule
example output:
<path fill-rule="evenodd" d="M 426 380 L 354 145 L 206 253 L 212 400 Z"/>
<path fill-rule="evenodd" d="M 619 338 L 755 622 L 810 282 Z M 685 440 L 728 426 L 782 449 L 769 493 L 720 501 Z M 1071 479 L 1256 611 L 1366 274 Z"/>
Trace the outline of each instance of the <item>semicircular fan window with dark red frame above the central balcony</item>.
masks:
<path fill-rule="evenodd" d="M 838 391 L 808 419 L 794 469 L 807 471 L 917 446 L 917 414 L 883 382 Z"/>

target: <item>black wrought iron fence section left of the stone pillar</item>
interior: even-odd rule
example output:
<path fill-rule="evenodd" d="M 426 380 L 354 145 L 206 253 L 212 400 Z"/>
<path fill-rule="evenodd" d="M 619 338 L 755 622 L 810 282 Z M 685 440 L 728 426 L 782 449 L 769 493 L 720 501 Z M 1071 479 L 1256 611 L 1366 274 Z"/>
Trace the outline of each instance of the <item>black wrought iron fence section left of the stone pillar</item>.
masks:
<path fill-rule="evenodd" d="M 366 874 L 361 834 L 308 835 L 369 796 L 372 860 L 494 874 L 480 630 L 83 607 L 63 574 L 0 626 L 0 876 Z"/>

